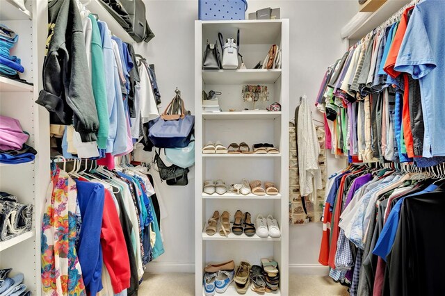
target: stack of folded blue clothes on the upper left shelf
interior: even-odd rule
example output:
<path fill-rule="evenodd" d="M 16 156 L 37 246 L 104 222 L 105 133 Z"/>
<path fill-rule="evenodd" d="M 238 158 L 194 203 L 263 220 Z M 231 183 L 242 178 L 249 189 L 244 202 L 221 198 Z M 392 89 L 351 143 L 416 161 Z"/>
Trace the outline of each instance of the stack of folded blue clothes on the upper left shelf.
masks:
<path fill-rule="evenodd" d="M 13 30 L 0 24 L 0 73 L 9 76 L 17 75 L 17 72 L 23 73 L 24 67 L 21 65 L 21 60 L 17 56 L 10 55 L 10 49 L 15 47 L 19 40 Z"/>

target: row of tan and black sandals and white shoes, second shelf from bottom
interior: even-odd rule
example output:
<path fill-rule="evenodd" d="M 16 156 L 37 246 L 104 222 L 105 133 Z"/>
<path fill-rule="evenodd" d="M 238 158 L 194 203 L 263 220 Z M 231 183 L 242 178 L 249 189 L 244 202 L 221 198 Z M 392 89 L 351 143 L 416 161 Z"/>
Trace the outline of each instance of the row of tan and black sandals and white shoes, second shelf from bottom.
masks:
<path fill-rule="evenodd" d="M 219 224 L 219 225 L 218 225 Z M 231 227 L 232 225 L 232 227 Z M 215 211 L 207 221 L 205 232 L 209 236 L 215 235 L 217 232 L 220 236 L 229 236 L 232 231 L 236 236 L 252 237 L 255 234 L 260 238 L 280 238 L 281 231 L 277 220 L 273 215 L 268 215 L 266 218 L 263 215 L 258 215 L 255 224 L 252 223 L 252 215 L 249 212 L 236 211 L 234 221 L 230 222 L 230 214 L 225 211 L 222 215 Z"/>

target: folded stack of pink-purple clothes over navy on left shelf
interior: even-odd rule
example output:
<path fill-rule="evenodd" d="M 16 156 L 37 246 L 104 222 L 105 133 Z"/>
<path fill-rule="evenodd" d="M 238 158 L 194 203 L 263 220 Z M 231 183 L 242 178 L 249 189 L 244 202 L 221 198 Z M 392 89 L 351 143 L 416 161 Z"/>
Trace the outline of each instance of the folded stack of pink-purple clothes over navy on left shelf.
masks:
<path fill-rule="evenodd" d="M 28 138 L 29 135 L 22 130 L 18 120 L 0 115 L 0 163 L 33 161 L 37 151 L 25 144 Z"/>

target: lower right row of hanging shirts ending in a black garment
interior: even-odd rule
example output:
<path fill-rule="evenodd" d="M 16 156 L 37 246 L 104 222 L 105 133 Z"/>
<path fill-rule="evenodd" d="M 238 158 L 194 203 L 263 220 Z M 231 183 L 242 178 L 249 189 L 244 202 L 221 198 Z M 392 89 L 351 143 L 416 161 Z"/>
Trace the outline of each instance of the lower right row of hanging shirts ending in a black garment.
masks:
<path fill-rule="evenodd" d="M 350 165 L 330 176 L 318 261 L 350 295 L 445 291 L 444 167 L 425 172 Z"/>

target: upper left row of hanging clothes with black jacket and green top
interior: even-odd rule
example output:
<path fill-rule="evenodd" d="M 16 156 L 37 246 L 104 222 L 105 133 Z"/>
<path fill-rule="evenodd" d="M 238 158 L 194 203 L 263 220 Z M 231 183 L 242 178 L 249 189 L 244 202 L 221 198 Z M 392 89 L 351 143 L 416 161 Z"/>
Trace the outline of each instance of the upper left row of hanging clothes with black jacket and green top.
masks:
<path fill-rule="evenodd" d="M 54 146 L 65 158 L 101 159 L 112 168 L 113 156 L 133 151 L 144 124 L 159 117 L 154 66 L 78 1 L 53 0 L 48 13 L 37 103 L 50 112 Z"/>

